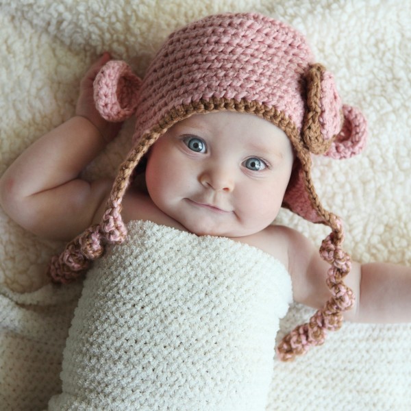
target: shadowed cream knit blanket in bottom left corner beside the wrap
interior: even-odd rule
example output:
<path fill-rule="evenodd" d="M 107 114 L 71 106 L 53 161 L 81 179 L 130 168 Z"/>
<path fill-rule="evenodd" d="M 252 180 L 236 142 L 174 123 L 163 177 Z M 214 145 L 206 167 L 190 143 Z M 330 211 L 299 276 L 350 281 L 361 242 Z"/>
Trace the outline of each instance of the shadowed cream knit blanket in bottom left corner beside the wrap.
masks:
<path fill-rule="evenodd" d="M 24 294 L 0 286 L 1 411 L 42 410 L 60 391 L 62 351 L 81 292 L 81 282 Z"/>

